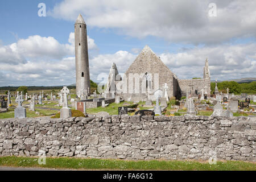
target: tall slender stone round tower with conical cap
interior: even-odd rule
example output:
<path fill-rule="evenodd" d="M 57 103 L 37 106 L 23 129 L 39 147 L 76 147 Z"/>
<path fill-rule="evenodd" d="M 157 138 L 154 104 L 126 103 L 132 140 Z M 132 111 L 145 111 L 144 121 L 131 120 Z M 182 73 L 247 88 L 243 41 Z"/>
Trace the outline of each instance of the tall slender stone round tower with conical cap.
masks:
<path fill-rule="evenodd" d="M 75 23 L 75 55 L 76 55 L 76 94 L 90 94 L 90 72 L 88 59 L 88 43 L 86 24 L 79 14 Z"/>

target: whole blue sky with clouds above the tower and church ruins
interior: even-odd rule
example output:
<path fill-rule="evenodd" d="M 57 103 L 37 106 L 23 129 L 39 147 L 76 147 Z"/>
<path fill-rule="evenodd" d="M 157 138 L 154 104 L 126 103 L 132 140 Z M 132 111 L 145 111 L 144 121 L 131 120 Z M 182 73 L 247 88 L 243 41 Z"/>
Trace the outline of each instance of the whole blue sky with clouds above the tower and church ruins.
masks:
<path fill-rule="evenodd" d="M 43 6 L 46 16 L 42 16 Z M 0 1 L 0 86 L 75 84 L 74 24 L 87 25 L 90 78 L 125 73 L 148 45 L 178 78 L 256 77 L 256 1 Z"/>

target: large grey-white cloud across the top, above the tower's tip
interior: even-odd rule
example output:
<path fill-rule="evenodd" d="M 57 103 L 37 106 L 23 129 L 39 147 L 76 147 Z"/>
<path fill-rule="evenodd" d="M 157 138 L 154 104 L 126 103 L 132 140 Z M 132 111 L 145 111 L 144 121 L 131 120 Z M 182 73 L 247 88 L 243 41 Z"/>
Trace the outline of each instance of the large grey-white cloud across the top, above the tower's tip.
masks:
<path fill-rule="evenodd" d="M 210 3 L 211 0 L 65 0 L 49 14 L 74 22 L 82 13 L 88 26 L 117 28 L 136 38 L 157 36 L 170 42 L 208 44 L 255 38 L 255 1 L 216 0 L 216 17 L 208 14 Z"/>

